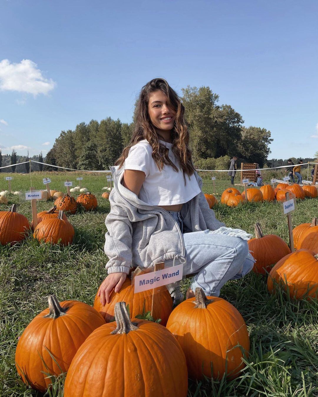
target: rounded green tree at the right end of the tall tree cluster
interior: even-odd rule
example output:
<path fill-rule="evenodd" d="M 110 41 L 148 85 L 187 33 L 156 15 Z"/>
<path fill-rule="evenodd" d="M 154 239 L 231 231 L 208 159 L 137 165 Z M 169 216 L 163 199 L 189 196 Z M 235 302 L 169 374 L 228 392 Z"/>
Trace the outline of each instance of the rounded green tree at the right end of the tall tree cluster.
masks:
<path fill-rule="evenodd" d="M 248 128 L 243 127 L 241 135 L 238 145 L 241 157 L 247 162 L 258 163 L 262 167 L 268 154 L 270 154 L 268 145 L 273 141 L 270 131 L 265 128 L 250 126 Z M 280 160 L 277 160 L 278 163 Z"/>

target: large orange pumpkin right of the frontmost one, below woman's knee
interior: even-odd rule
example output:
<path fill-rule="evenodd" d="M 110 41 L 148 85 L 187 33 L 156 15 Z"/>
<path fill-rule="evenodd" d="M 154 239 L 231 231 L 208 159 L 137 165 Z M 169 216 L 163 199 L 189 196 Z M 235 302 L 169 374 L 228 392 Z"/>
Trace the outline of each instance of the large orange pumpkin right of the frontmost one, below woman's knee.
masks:
<path fill-rule="evenodd" d="M 189 378 L 235 378 L 248 355 L 249 333 L 237 309 L 221 298 L 195 289 L 195 298 L 180 303 L 171 313 L 167 328 L 176 337 L 187 359 Z M 211 370 L 213 371 L 211 374 Z"/>

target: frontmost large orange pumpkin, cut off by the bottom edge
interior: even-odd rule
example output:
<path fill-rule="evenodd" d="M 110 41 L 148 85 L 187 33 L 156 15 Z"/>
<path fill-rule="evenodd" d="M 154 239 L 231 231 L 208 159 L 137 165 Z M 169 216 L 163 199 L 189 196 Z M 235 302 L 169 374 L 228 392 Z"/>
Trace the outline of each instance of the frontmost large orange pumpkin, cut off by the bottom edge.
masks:
<path fill-rule="evenodd" d="M 115 321 L 93 331 L 67 372 L 64 397 L 186 397 L 187 364 L 172 333 L 129 319 L 125 302 Z"/>

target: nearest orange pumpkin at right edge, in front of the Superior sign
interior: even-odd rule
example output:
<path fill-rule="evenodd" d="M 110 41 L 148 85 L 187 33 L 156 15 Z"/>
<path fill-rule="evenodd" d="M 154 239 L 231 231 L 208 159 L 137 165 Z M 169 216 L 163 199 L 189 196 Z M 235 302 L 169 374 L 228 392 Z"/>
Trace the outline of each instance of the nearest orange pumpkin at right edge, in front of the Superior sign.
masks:
<path fill-rule="evenodd" d="M 287 285 L 286 285 L 287 281 Z M 297 250 L 284 256 L 272 268 L 267 287 L 271 293 L 281 285 L 294 299 L 318 297 L 318 260 L 309 250 Z"/>

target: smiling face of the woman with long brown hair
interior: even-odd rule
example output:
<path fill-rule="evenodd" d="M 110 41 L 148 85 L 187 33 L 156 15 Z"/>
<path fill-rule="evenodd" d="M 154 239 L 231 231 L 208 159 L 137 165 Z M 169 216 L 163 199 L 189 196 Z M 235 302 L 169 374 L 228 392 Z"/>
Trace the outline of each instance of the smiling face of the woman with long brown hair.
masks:
<path fill-rule="evenodd" d="M 162 91 L 154 91 L 148 100 L 148 114 L 157 130 L 170 131 L 175 122 L 175 110 L 167 103 L 167 97 Z"/>

